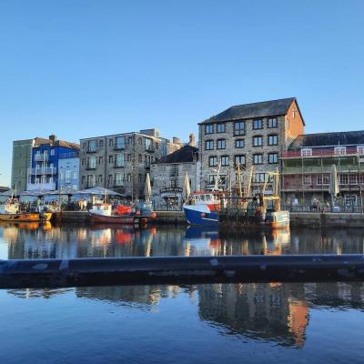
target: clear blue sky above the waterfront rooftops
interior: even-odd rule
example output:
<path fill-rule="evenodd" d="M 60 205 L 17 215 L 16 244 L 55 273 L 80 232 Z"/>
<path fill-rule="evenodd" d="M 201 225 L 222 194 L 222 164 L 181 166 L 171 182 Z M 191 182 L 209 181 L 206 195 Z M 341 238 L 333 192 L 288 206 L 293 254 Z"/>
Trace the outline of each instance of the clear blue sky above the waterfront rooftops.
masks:
<path fill-rule="evenodd" d="M 308 133 L 364 128 L 364 1 L 0 0 L 0 185 L 12 141 L 157 126 L 297 96 Z"/>

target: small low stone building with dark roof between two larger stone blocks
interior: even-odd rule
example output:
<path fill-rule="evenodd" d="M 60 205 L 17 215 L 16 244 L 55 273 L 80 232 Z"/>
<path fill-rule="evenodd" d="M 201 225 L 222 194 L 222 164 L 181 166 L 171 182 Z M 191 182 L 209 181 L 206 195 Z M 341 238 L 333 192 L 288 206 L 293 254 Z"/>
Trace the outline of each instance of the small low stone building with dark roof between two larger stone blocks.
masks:
<path fill-rule="evenodd" d="M 150 167 L 155 207 L 181 206 L 186 173 L 191 191 L 199 189 L 198 148 L 195 136 L 191 134 L 189 138 L 186 146 L 158 159 Z"/>

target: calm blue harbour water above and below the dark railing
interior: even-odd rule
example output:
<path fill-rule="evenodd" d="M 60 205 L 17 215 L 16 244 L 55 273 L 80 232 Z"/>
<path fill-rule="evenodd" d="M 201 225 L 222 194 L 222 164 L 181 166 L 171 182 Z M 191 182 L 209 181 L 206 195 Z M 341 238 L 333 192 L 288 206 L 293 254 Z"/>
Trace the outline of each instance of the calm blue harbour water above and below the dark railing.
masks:
<path fill-rule="evenodd" d="M 363 253 L 364 230 L 0 225 L 0 258 Z M 364 284 L 0 290 L 1 363 L 363 363 Z"/>

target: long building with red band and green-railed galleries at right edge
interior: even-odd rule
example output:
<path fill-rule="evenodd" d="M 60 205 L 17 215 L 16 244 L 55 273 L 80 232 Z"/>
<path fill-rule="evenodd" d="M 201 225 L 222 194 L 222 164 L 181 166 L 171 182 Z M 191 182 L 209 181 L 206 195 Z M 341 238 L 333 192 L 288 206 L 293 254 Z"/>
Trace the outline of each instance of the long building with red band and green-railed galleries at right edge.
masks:
<path fill-rule="evenodd" d="M 337 204 L 361 206 L 364 188 L 364 131 L 298 136 L 282 155 L 282 195 L 288 205 L 331 201 L 332 166 L 339 181 Z"/>

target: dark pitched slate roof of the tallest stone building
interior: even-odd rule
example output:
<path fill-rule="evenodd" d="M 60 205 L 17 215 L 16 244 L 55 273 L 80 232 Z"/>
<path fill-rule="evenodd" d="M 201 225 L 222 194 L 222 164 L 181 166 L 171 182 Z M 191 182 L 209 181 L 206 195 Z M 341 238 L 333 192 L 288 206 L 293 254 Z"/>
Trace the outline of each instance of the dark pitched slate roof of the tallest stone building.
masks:
<path fill-rule="evenodd" d="M 218 121 L 248 119 L 253 117 L 280 116 L 286 115 L 289 106 L 296 97 L 281 98 L 279 100 L 262 101 L 253 104 L 231 106 L 227 110 L 211 116 L 200 124 L 215 123 Z M 298 108 L 299 111 L 299 108 Z M 302 118 L 303 119 L 303 118 Z"/>

